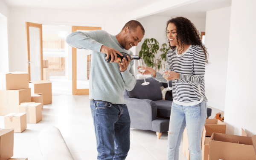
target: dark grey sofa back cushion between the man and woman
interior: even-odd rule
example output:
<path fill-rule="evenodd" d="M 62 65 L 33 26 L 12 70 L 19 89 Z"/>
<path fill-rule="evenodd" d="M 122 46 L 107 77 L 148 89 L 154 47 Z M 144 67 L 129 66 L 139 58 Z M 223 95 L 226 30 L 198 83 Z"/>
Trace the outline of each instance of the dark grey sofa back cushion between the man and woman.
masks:
<path fill-rule="evenodd" d="M 144 82 L 144 79 L 137 79 L 134 89 L 131 91 L 125 90 L 124 95 L 137 99 L 150 99 L 152 101 L 161 100 L 162 91 L 159 81 L 152 77 L 146 78 L 146 81 L 148 81 L 149 84 L 143 86 L 141 84 Z"/>

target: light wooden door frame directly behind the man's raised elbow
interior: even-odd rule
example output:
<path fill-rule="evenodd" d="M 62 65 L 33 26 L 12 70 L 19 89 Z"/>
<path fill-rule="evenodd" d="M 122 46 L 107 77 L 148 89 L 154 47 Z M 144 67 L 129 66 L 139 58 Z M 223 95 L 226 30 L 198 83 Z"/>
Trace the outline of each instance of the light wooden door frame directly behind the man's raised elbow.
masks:
<path fill-rule="evenodd" d="M 89 27 L 89 26 L 72 26 L 72 32 L 76 32 L 77 30 L 101 30 L 102 27 Z M 89 95 L 89 89 L 77 89 L 77 76 L 76 76 L 76 48 L 72 47 L 72 94 L 73 95 Z"/>

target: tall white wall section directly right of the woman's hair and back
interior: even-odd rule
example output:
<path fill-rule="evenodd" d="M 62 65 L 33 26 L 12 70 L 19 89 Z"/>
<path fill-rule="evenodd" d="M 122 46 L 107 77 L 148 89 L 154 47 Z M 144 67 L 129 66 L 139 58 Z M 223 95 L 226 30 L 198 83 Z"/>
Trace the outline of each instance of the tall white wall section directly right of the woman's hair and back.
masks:
<path fill-rule="evenodd" d="M 205 90 L 207 105 L 224 111 L 231 6 L 207 12 L 205 47 L 209 53 Z"/>

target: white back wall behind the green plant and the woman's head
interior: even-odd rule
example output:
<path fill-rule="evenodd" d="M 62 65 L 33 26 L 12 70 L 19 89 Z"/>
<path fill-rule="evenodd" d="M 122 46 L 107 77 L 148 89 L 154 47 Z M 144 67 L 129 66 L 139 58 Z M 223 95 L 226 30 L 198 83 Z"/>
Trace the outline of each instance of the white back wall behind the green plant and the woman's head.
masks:
<path fill-rule="evenodd" d="M 166 43 L 169 46 L 168 39 L 166 37 L 166 23 L 168 20 L 171 19 L 171 16 L 172 15 L 170 15 L 170 17 L 147 16 L 147 17 L 137 19 L 143 25 L 143 27 L 145 29 L 145 36 L 144 36 L 142 42 L 140 42 L 138 44 L 138 46 L 136 47 L 136 55 L 139 55 L 141 46 L 142 46 L 145 38 L 155 38 L 159 42 L 160 47 L 163 43 Z M 189 20 L 191 20 L 192 23 L 194 23 L 194 25 L 198 29 L 199 33 L 205 32 L 205 19 L 189 18 L 189 17 L 187 17 L 187 18 Z M 159 55 L 161 55 L 161 54 L 162 53 L 159 51 L 156 58 L 158 58 Z M 164 63 L 164 62 L 162 62 L 162 63 Z M 138 63 L 136 63 L 135 68 L 137 68 L 137 66 L 138 66 Z M 160 70 L 160 72 L 161 72 L 161 70 Z M 138 74 L 137 70 L 135 70 L 135 75 L 136 74 Z"/>

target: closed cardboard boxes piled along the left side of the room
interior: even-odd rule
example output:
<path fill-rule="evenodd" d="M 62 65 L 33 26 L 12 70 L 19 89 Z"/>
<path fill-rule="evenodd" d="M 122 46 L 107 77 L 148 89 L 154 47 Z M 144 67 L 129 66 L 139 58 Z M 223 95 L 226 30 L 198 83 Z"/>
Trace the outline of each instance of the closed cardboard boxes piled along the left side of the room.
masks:
<path fill-rule="evenodd" d="M 50 81 L 29 81 L 29 73 L 0 73 L 0 116 L 5 129 L 0 129 L 0 160 L 27 160 L 13 156 L 14 133 L 21 133 L 27 123 L 42 120 L 43 105 L 52 103 Z"/>

